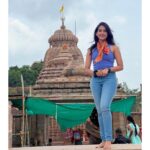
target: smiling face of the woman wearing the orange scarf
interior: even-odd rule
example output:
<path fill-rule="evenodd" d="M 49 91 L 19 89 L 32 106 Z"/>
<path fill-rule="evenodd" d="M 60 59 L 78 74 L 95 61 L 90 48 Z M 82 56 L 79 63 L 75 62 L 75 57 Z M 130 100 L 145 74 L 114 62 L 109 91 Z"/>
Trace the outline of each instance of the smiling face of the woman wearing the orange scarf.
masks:
<path fill-rule="evenodd" d="M 99 26 L 96 36 L 99 40 L 104 41 L 107 38 L 107 32 L 104 26 Z"/>

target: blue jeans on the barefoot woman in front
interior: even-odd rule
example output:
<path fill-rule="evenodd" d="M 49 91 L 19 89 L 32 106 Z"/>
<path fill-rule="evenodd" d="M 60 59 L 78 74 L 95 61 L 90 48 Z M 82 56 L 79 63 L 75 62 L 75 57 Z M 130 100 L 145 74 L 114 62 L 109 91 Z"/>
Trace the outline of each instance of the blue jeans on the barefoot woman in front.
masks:
<path fill-rule="evenodd" d="M 112 115 L 111 102 L 117 89 L 115 73 L 104 77 L 92 77 L 90 88 L 98 113 L 98 122 L 102 141 L 112 141 Z"/>

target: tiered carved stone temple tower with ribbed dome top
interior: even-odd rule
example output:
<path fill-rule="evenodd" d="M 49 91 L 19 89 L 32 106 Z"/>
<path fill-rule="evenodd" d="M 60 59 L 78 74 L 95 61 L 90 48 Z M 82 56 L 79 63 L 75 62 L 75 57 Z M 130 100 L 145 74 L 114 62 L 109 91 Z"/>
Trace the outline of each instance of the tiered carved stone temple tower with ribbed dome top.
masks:
<path fill-rule="evenodd" d="M 67 102 L 91 100 L 90 78 L 83 74 L 84 60 L 78 38 L 64 25 L 49 38 L 43 69 L 34 86 L 34 95 Z"/>

